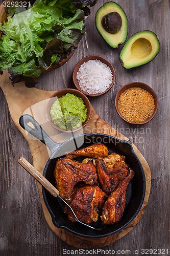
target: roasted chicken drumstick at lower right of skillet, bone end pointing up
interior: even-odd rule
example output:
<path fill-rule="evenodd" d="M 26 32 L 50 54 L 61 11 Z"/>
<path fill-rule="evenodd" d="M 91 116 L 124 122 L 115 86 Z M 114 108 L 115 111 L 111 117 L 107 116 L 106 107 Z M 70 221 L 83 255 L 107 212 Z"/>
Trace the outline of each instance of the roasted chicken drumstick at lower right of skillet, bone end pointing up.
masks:
<path fill-rule="evenodd" d="M 105 202 L 101 216 L 101 220 L 105 224 L 110 225 L 122 219 L 126 203 L 126 189 L 133 176 L 134 172 L 130 169 L 129 175 L 119 182 L 116 189 Z"/>

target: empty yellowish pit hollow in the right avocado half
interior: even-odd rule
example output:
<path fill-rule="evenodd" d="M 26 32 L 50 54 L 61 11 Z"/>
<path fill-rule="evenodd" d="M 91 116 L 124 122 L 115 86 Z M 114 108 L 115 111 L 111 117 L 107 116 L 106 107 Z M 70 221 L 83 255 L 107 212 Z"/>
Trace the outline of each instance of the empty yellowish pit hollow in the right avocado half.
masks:
<path fill-rule="evenodd" d="M 131 54 L 136 58 L 147 57 L 151 52 L 151 42 L 145 38 L 138 38 L 131 47 Z"/>

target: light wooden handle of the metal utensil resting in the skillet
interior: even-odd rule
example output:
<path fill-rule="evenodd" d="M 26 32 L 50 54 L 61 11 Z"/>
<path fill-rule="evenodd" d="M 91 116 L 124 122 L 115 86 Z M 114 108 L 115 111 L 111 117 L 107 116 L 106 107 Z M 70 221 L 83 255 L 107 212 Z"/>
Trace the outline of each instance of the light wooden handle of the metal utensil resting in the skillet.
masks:
<path fill-rule="evenodd" d="M 29 163 L 25 158 L 20 157 L 17 161 L 23 168 L 29 172 L 52 196 L 57 197 L 60 192 L 55 188 L 47 179 L 45 179 L 36 168 L 34 168 L 31 163 Z"/>

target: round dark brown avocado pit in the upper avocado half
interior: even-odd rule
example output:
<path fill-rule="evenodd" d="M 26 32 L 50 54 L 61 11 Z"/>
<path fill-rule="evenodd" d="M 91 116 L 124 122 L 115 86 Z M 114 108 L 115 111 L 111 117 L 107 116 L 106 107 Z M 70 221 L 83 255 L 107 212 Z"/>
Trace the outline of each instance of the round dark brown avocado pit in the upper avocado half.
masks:
<path fill-rule="evenodd" d="M 110 34 L 116 34 L 122 27 L 122 18 L 117 12 L 107 13 L 102 18 L 103 28 Z"/>

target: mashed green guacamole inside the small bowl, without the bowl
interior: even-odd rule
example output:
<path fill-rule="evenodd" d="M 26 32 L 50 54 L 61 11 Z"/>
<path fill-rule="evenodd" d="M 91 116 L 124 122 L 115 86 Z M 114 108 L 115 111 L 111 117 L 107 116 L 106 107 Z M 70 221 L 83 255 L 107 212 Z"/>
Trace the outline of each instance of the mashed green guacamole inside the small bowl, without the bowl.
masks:
<path fill-rule="evenodd" d="M 63 130 L 76 130 L 87 118 L 87 108 L 82 98 L 67 93 L 54 101 L 50 114 L 55 125 Z"/>

